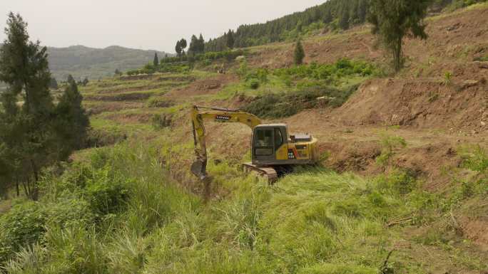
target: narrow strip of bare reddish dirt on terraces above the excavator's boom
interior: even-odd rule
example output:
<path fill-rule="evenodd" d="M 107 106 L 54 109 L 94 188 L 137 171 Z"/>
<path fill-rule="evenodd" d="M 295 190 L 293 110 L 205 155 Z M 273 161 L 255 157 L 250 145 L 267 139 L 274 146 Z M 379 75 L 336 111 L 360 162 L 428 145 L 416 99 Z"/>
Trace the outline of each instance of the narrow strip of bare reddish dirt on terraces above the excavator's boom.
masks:
<path fill-rule="evenodd" d="M 239 79 L 235 75 L 222 74 L 213 78 L 198 80 L 190 83 L 185 88 L 177 88 L 172 90 L 165 97 L 188 97 L 195 95 L 207 95 L 218 93 L 226 84 L 237 82 Z"/>

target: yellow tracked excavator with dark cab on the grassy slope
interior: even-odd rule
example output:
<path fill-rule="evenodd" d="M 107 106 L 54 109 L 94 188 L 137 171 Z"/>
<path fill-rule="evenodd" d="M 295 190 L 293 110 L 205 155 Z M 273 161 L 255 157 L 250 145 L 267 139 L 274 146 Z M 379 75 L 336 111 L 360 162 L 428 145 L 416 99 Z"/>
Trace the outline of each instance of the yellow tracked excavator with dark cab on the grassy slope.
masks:
<path fill-rule="evenodd" d="M 252 162 L 244 163 L 243 168 L 247 172 L 257 172 L 269 182 L 278 179 L 280 170 L 288 170 L 294 165 L 315 164 L 319 160 L 317 139 L 311 135 L 292 135 L 287 125 L 262 124 L 258 117 L 247 112 L 195 105 L 191 110 L 191 122 L 196 159 L 191 166 L 191 172 L 203 181 L 208 177 L 204 120 L 248 125 L 253 130 Z"/>

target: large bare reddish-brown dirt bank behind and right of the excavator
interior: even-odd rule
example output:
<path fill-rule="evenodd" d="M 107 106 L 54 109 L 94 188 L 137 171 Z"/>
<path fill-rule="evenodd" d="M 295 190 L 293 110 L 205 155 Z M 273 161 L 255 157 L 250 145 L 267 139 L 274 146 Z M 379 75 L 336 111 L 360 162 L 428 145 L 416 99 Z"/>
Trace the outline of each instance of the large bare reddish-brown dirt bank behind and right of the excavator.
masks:
<path fill-rule="evenodd" d="M 487 130 L 484 78 L 445 84 L 438 80 L 380 79 L 361 86 L 332 117 L 343 125 L 408 125 Z"/>

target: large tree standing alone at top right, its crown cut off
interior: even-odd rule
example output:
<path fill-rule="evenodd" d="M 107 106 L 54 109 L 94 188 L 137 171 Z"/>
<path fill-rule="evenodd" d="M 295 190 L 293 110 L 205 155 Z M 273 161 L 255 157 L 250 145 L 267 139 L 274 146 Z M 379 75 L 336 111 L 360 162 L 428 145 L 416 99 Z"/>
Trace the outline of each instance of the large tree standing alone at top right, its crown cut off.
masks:
<path fill-rule="evenodd" d="M 426 39 L 425 23 L 430 0 L 371 0 L 370 16 L 372 33 L 390 51 L 393 67 L 399 71 L 403 66 L 402 43 L 406 35 Z"/>

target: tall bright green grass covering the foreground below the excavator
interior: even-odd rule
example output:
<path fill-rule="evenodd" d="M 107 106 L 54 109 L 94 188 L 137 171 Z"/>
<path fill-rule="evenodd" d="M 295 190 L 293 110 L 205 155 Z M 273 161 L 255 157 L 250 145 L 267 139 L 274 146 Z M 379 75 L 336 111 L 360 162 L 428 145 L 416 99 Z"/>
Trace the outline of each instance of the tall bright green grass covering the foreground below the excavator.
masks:
<path fill-rule="evenodd" d="M 401 174 L 365 179 L 304 168 L 269 186 L 223 162 L 209 168 L 225 196 L 204 204 L 168 179 L 159 150 L 123 142 L 46 176 L 37 206 L 48 221 L 36 241 L 9 253 L 6 273 L 377 273 L 402 226 L 432 221 L 447 202 L 415 184 L 403 191 L 410 178 Z M 126 196 L 104 190 L 119 184 Z M 118 201 L 115 210 L 86 204 L 93 185 Z M 66 201 L 86 217 L 52 214 Z M 415 218 L 388 228 L 405 215 Z M 419 243 L 444 239 L 436 235 Z M 390 261 L 395 273 L 426 272 L 400 253 Z"/>

